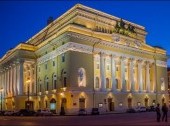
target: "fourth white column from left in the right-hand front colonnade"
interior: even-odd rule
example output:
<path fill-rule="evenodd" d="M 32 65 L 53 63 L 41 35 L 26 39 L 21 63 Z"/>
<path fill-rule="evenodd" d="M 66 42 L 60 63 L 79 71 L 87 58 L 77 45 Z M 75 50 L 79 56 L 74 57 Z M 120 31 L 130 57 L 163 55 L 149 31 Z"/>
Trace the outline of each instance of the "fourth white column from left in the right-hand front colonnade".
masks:
<path fill-rule="evenodd" d="M 131 91 L 135 91 L 135 83 L 134 83 L 134 72 L 133 72 L 133 58 L 129 59 L 129 84 L 131 86 Z"/>

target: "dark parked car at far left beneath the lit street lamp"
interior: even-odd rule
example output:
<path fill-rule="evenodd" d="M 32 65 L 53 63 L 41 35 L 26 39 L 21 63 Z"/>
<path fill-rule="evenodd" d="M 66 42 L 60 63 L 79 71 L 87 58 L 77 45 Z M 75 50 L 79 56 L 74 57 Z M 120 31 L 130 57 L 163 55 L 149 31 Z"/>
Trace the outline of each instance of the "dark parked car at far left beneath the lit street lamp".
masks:
<path fill-rule="evenodd" d="M 17 116 L 33 116 L 35 111 L 28 110 L 28 109 L 20 109 L 18 112 L 14 113 Z"/>

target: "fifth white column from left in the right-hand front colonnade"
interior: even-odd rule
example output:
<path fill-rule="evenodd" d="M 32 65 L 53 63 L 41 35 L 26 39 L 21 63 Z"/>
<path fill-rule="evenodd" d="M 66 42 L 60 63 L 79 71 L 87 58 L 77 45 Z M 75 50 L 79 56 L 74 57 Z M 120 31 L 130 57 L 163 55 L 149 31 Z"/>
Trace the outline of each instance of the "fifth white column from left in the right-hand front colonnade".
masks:
<path fill-rule="evenodd" d="M 138 60 L 138 84 L 139 92 L 142 92 L 142 60 Z"/>

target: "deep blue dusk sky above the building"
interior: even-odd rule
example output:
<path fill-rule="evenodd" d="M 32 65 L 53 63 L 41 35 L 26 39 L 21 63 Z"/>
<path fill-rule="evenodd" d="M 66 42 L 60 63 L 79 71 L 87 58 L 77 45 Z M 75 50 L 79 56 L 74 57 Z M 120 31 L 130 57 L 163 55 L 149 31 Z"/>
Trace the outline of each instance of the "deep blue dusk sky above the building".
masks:
<path fill-rule="evenodd" d="M 61 0 L 1 1 L 0 57 L 43 29 L 49 16 L 56 19 L 77 3 L 144 26 L 146 43 L 160 46 L 170 55 L 170 1 Z"/>

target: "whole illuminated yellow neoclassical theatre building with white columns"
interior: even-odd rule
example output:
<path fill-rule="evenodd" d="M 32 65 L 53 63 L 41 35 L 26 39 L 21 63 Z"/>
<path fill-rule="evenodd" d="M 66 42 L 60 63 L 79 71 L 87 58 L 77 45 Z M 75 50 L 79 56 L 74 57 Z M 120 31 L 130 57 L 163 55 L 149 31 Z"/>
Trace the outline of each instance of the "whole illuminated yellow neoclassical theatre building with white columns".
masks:
<path fill-rule="evenodd" d="M 0 60 L 3 109 L 101 112 L 168 102 L 166 51 L 145 28 L 77 4 Z"/>

